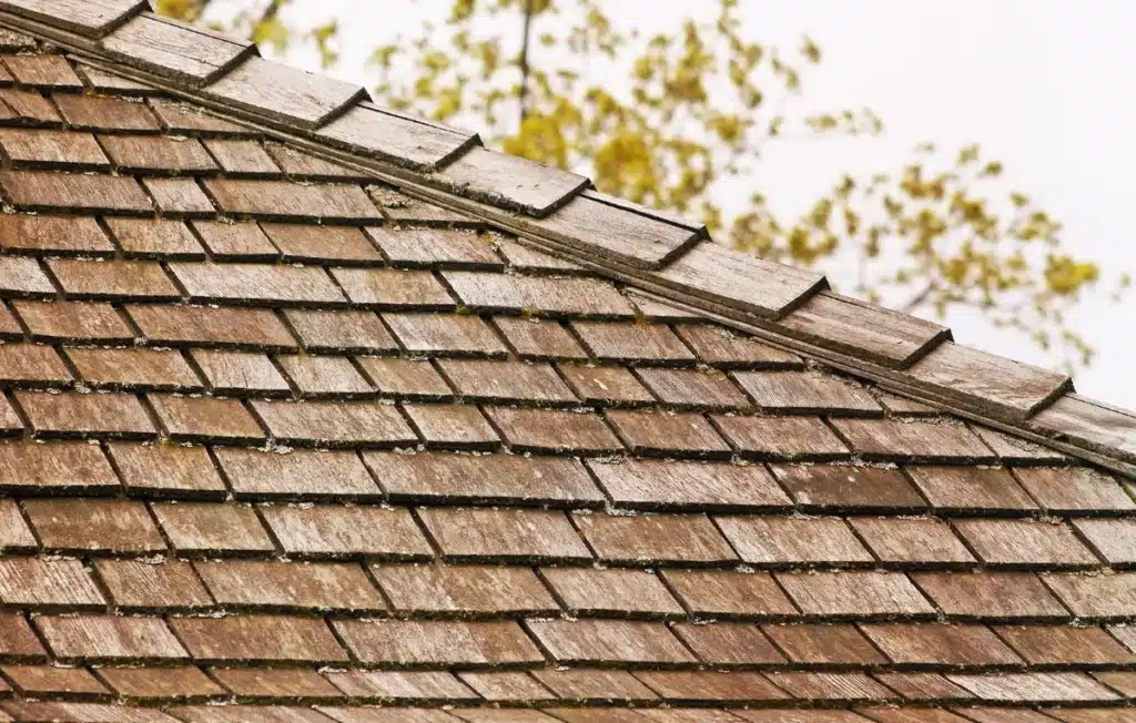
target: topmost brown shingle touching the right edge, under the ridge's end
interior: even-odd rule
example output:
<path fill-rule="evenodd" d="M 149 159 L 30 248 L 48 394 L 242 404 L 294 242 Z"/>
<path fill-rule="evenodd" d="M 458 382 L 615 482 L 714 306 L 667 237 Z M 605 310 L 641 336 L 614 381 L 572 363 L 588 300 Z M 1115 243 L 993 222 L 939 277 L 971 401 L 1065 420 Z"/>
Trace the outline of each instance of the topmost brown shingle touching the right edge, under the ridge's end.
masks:
<path fill-rule="evenodd" d="M 1014 474 L 1034 499 L 1055 514 L 1136 510 L 1116 478 L 1087 466 L 1018 469 Z"/>

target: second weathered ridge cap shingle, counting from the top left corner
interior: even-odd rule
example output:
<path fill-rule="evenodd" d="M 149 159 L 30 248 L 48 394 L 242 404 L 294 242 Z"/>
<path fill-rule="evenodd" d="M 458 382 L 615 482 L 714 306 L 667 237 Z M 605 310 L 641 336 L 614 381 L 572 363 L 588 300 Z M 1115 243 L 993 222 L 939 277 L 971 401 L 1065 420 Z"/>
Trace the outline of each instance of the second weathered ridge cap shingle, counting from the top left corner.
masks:
<path fill-rule="evenodd" d="M 143 12 L 102 41 L 116 60 L 193 85 L 208 82 L 257 47 Z"/>

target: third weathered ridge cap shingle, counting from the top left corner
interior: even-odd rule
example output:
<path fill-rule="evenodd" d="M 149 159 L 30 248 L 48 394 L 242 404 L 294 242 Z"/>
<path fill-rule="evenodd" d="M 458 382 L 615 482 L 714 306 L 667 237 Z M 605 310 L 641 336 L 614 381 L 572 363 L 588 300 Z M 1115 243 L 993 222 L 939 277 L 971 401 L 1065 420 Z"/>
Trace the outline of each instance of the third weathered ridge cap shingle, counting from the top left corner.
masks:
<path fill-rule="evenodd" d="M 318 128 L 367 95 L 362 86 L 262 58 L 249 58 L 204 93 L 301 128 Z"/>

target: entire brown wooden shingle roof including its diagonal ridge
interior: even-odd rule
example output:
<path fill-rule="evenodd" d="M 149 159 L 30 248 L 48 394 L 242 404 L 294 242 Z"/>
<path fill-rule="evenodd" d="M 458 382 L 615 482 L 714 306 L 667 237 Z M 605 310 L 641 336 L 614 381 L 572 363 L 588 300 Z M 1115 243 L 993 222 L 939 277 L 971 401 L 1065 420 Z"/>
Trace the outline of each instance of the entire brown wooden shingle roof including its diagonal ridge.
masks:
<path fill-rule="evenodd" d="M 0 720 L 1136 720 L 1131 413 L 144 10 L 0 1 Z"/>

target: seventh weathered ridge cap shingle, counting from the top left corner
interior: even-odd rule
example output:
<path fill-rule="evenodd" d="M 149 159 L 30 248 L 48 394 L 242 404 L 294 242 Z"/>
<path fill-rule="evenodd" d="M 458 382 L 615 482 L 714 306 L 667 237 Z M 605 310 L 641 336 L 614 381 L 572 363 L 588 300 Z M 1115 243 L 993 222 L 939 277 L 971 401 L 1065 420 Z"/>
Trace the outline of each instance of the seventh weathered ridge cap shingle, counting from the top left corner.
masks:
<path fill-rule="evenodd" d="M 651 280 L 719 304 L 779 319 L 824 289 L 828 281 L 813 271 L 774 263 L 719 246 L 696 245 Z"/>

